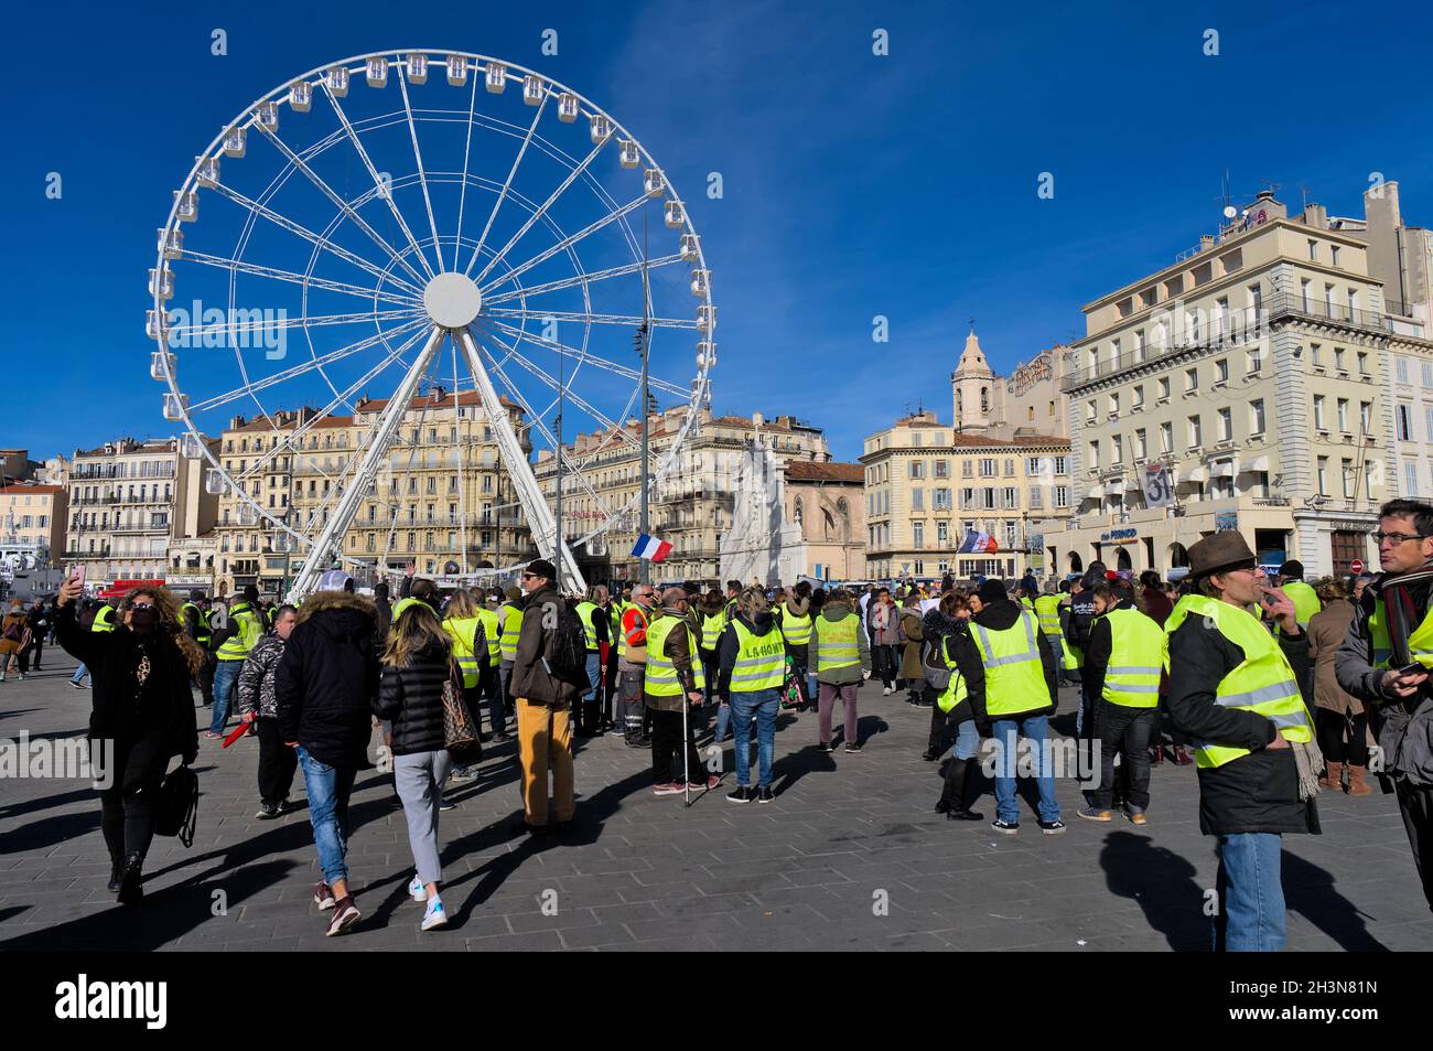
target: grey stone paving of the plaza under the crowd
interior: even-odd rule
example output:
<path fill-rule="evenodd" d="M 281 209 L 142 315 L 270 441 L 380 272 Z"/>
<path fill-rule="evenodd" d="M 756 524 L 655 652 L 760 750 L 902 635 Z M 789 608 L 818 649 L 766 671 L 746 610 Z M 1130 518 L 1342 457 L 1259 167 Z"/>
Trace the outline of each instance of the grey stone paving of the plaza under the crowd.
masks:
<path fill-rule="evenodd" d="M 56 658 L 63 654 L 52 651 Z M 0 737 L 83 734 L 89 691 L 69 661 L 0 685 Z M 443 899 L 450 922 L 420 933 L 403 812 L 390 779 L 358 776 L 348 863 L 364 919 L 325 938 L 308 813 L 258 822 L 258 743 L 202 741 L 193 846 L 156 837 L 148 899 L 105 890 L 99 803 L 83 781 L 0 783 L 0 949 L 1184 949 L 1208 948 L 1212 840 L 1199 834 L 1194 767 L 1154 771 L 1151 822 L 1088 824 L 1058 783 L 1065 836 L 933 812 L 927 710 L 861 690 L 860 754 L 813 746 L 815 715 L 782 714 L 771 804 L 651 793 L 649 754 L 615 737 L 579 741 L 577 822 L 533 839 L 520 819 L 516 746 L 489 747 L 476 783 L 450 789 Z M 1055 727 L 1073 731 L 1075 691 Z M 208 710 L 196 710 L 208 721 Z M 704 721 L 706 715 L 701 717 Z M 840 726 L 840 723 L 837 723 Z M 840 733 L 840 731 L 837 731 Z M 754 750 L 755 751 L 755 750 Z M 302 779 L 295 799 L 302 800 Z M 987 789 L 977 803 L 995 816 Z M 1433 936 L 1391 796 L 1320 796 L 1323 836 L 1284 840 L 1288 948 L 1423 949 Z"/>

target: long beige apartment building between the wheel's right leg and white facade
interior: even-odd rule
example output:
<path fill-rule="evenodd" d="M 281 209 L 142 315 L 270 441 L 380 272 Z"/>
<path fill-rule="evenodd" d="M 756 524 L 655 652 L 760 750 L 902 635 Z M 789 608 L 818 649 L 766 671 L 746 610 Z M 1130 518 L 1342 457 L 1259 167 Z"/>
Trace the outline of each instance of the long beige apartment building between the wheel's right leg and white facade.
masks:
<path fill-rule="evenodd" d="M 661 463 L 681 427 L 685 406 L 655 413 L 648 422 L 652 469 Z M 771 449 L 782 467 L 792 460 L 827 463 L 831 450 L 820 427 L 761 413 L 712 416 L 702 409 L 678 462 L 649 495 L 649 533 L 668 541 L 672 552 L 651 565 L 656 584 L 716 581 L 721 575 L 721 536 L 732 526 L 735 506 L 734 480 L 741 453 L 749 446 Z M 579 434 L 566 446 L 577 470 L 563 476 L 563 535 L 569 545 L 602 525 L 609 515 L 632 502 L 605 536 L 590 545 L 576 546 L 573 555 L 583 574 L 593 581 L 636 579 L 641 559 L 632 546 L 641 529 L 638 503 L 641 489 L 641 420 L 628 420 L 616 430 Z M 552 450 L 537 453 L 535 473 L 547 496 L 556 503 L 556 457 Z M 565 462 L 563 470 L 569 467 Z"/>

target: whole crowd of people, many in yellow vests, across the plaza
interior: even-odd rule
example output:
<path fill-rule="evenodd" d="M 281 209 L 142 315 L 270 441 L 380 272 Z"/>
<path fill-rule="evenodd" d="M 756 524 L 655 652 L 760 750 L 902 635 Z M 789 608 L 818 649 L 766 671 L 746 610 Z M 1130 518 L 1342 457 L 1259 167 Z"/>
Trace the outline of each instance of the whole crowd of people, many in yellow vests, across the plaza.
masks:
<path fill-rule="evenodd" d="M 335 569 L 298 607 L 261 602 L 252 588 L 229 602 L 192 594 L 182 604 L 140 588 L 83 618 L 79 582 L 67 581 L 47 617 L 80 661 L 76 681 L 92 675 L 92 736 L 116 741 L 122 776 L 102 793 L 102 813 L 122 902 L 143 896 L 158 779 L 169 758 L 198 753 L 191 685 L 211 707 L 205 737 L 228 733 L 231 708 L 258 737 L 259 819 L 292 806 L 302 774 L 322 873 L 314 900 L 332 910 L 327 931 L 337 935 L 361 915 L 348 882 L 348 802 L 357 773 L 374 766 L 375 731 L 407 820 L 408 890 L 428 931 L 446 923 L 444 786 L 477 777 L 483 744 L 516 736 L 522 826 L 535 836 L 577 816 L 575 736 L 620 734 L 649 751 L 655 796 L 716 790 L 722 774 L 696 750 L 699 714 L 715 717 L 714 743 L 734 738 L 727 802 L 761 804 L 775 797 L 781 708 L 815 708 L 808 747 L 840 741 L 860 754 L 858 688 L 878 680 L 883 698 L 904 691 L 930 708 L 923 758 L 949 750 L 936 812 L 984 820 L 973 809 L 979 760 L 993 754 L 989 827 L 1017 834 L 1023 738 L 1036 824 L 1053 836 L 1066 826 L 1045 746 L 1065 684 L 1079 690 L 1075 734 L 1099 769 L 1078 816 L 1144 826 L 1151 769 L 1166 758 L 1197 766 L 1199 823 L 1219 857 L 1217 948 L 1270 951 L 1284 942 L 1280 837 L 1318 832 L 1320 789 L 1373 790 L 1374 737 L 1374 773 L 1397 793 L 1433 906 L 1433 506 L 1386 505 L 1376 538 L 1383 574 L 1313 585 L 1297 562 L 1265 578 L 1242 536 L 1219 532 L 1189 548 L 1178 585 L 1095 563 L 1069 581 L 1013 586 L 629 582 L 572 595 L 537 559 L 507 589 L 444 594 L 410 566 L 397 596 L 383 582 L 368 596 Z"/>

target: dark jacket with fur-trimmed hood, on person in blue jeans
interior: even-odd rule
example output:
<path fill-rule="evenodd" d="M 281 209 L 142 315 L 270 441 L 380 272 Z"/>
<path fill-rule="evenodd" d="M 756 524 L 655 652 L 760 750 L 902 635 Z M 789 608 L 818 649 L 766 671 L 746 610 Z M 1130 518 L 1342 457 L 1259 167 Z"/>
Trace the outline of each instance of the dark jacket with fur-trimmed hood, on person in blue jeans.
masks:
<path fill-rule="evenodd" d="M 321 591 L 304 601 L 274 677 L 279 731 L 320 763 L 368 766 L 378 694 L 377 609 L 361 595 Z"/>

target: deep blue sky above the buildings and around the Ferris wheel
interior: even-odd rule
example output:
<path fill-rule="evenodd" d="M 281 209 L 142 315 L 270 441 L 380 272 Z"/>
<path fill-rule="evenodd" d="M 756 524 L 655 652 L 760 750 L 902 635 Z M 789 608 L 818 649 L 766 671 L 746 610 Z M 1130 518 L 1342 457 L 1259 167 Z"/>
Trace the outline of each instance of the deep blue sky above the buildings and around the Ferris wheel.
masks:
<path fill-rule="evenodd" d="M 0 444 L 40 457 L 172 433 L 143 334 L 172 189 L 252 99 L 368 50 L 507 57 L 632 129 L 682 191 L 714 272 L 714 407 L 795 413 L 840 459 L 919 401 L 949 419 L 967 318 L 997 370 L 1083 331 L 1083 303 L 1214 229 L 1225 169 L 1235 202 L 1268 181 L 1293 208 L 1307 186 L 1346 215 L 1383 172 L 1401 184 L 1404 218 L 1433 222 L 1433 139 L 1419 132 L 1433 16 L 1413 4 L 1376 19 L 1317 3 L 332 11 L 57 3 L 7 16 Z M 871 53 L 877 27 L 886 57 Z M 540 52 L 545 29 L 556 56 Z M 712 171 L 722 199 L 704 194 Z M 44 196 L 49 172 L 63 176 L 59 201 Z M 1040 172 L 1053 199 L 1036 195 Z"/>

